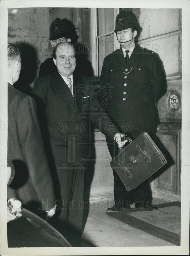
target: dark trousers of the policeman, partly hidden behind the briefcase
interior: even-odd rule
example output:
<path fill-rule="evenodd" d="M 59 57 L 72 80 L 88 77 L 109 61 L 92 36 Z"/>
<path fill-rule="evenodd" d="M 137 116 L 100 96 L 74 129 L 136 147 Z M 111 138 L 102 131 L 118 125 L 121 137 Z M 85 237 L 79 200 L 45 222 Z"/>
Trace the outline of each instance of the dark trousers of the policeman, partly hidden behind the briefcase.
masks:
<path fill-rule="evenodd" d="M 154 140 L 156 136 L 156 128 L 148 128 L 146 130 L 136 130 L 127 132 L 127 136 L 130 137 L 132 140 L 137 138 L 141 133 L 147 132 L 150 137 Z M 108 144 L 108 148 L 110 154 L 115 157 L 118 153 L 118 146 L 115 143 L 114 146 Z M 136 202 L 136 204 L 141 205 L 143 201 L 147 204 L 148 202 L 151 203 L 152 195 L 149 189 L 149 182 L 148 179 L 141 183 L 138 187 L 131 191 L 127 191 L 121 178 L 118 176 L 117 172 L 113 170 L 114 176 L 114 201 L 115 205 L 118 207 L 130 207 L 130 204 Z"/>

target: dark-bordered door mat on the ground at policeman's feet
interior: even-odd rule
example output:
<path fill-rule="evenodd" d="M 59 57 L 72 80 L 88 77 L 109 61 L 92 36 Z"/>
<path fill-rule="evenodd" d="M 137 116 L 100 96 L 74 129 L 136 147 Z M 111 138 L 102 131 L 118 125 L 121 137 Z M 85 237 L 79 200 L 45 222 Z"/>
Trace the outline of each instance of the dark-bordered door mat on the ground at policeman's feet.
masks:
<path fill-rule="evenodd" d="M 109 212 L 107 214 L 129 226 L 180 246 L 180 202 L 160 204 L 158 210 L 154 211 L 123 209 L 120 212 Z"/>

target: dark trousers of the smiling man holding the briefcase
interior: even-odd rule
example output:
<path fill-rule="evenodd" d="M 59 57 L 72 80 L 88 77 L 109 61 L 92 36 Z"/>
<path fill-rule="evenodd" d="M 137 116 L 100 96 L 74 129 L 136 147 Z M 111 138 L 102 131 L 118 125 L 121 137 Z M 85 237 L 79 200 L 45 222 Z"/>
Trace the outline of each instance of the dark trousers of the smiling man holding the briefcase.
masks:
<path fill-rule="evenodd" d="M 73 247 L 80 247 L 84 211 L 84 168 L 68 166 L 56 161 L 59 184 L 54 184 L 57 195 L 56 214 L 50 219 L 53 225 Z"/>

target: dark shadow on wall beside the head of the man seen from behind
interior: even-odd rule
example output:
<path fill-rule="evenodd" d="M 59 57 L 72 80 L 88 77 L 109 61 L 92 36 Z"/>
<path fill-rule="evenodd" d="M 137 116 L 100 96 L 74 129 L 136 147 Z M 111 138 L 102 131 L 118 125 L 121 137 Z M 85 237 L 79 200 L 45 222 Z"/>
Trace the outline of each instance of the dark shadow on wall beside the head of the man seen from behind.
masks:
<path fill-rule="evenodd" d="M 28 43 L 17 43 L 15 45 L 20 49 L 21 72 L 14 87 L 21 92 L 29 94 L 32 83 L 37 76 L 37 52 Z"/>

